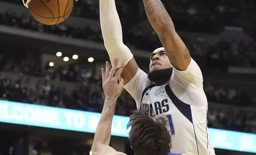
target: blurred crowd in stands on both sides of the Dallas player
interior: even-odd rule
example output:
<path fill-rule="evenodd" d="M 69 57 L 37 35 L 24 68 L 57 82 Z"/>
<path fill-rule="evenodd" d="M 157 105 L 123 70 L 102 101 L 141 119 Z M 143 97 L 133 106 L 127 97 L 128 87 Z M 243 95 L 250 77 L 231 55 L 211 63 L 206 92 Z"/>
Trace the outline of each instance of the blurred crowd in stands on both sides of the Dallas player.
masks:
<path fill-rule="evenodd" d="M 101 79 L 93 76 L 90 70 L 82 71 L 79 65 L 68 68 L 46 67 L 41 71 L 35 69 L 33 63 L 25 60 L 22 60 L 21 64 L 4 65 L 0 72 L 2 99 L 101 112 L 105 100 Z M 61 82 L 64 84 L 61 85 Z M 243 91 L 238 93 L 239 90 L 223 89 L 208 83 L 205 84 L 204 90 L 209 104 L 217 102 L 226 105 L 256 107 L 256 98 L 244 94 Z M 128 116 L 132 110 L 136 109 L 134 99 L 125 90 L 117 102 L 115 112 L 117 115 Z M 246 112 L 233 113 L 232 110 L 209 109 L 208 117 L 210 127 L 256 132 L 255 113 L 248 116 Z"/>

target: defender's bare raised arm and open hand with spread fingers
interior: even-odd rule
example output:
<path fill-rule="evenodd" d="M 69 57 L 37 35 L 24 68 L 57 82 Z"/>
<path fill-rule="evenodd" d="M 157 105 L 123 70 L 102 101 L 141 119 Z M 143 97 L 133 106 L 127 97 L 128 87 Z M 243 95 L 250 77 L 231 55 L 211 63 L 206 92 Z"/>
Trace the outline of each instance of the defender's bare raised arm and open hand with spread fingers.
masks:
<path fill-rule="evenodd" d="M 116 106 L 116 100 L 124 89 L 124 80 L 120 76 L 124 64 L 122 64 L 119 70 L 115 73 L 117 66 L 117 60 L 114 60 L 114 65 L 110 71 L 109 62 L 106 62 L 106 71 L 102 68 L 102 82 L 103 90 L 106 96 L 101 118 L 99 120 L 91 151 L 93 155 L 112 155 L 116 154 L 116 150 L 109 146 L 111 137 L 111 125 L 114 117 L 114 109 Z M 117 82 L 119 79 L 119 83 Z"/>

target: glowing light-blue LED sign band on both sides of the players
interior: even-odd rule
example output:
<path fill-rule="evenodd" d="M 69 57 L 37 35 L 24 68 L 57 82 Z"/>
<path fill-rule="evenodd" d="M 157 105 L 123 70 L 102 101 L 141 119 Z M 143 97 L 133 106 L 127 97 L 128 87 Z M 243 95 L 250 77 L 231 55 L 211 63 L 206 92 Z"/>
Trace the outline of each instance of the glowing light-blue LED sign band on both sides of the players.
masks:
<path fill-rule="evenodd" d="M 95 133 L 100 113 L 0 100 L 0 122 Z M 115 115 L 113 136 L 128 137 L 129 117 Z M 213 147 L 256 153 L 256 134 L 209 128 Z"/>

